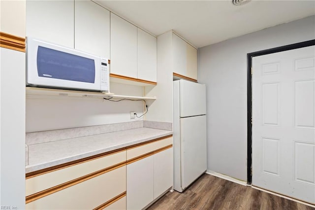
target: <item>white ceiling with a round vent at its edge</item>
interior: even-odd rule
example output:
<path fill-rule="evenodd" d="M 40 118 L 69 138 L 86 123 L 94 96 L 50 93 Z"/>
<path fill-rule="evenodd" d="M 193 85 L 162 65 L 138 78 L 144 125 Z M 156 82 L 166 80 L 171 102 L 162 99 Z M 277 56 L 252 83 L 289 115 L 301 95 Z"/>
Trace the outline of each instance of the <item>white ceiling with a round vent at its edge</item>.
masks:
<path fill-rule="evenodd" d="M 153 35 L 172 29 L 197 48 L 315 14 L 315 0 L 96 1 Z"/>

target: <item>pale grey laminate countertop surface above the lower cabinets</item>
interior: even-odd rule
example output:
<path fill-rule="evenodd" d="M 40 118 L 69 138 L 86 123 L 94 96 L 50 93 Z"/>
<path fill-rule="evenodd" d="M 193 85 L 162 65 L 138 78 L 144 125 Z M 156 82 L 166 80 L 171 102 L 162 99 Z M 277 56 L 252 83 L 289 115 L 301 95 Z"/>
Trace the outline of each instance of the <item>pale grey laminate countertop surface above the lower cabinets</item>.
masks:
<path fill-rule="evenodd" d="M 26 173 L 173 134 L 172 131 L 136 128 L 67 140 L 29 145 Z"/>

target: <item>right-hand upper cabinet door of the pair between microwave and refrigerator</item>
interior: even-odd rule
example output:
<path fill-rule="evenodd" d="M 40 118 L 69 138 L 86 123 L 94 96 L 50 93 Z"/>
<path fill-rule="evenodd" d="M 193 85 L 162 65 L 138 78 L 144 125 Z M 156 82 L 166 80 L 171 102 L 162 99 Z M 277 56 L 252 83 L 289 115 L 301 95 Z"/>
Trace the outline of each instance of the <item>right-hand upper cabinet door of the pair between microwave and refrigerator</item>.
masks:
<path fill-rule="evenodd" d="M 138 79 L 157 81 L 157 38 L 138 28 Z"/>

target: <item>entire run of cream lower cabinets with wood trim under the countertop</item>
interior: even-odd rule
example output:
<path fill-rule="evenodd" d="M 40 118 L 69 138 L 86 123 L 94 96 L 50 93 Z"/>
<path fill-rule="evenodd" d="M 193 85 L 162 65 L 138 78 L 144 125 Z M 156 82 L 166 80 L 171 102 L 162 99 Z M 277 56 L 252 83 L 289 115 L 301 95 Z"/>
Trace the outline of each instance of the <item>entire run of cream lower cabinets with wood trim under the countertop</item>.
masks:
<path fill-rule="evenodd" d="M 166 137 L 27 174 L 26 209 L 144 209 L 173 185 L 172 145 Z"/>

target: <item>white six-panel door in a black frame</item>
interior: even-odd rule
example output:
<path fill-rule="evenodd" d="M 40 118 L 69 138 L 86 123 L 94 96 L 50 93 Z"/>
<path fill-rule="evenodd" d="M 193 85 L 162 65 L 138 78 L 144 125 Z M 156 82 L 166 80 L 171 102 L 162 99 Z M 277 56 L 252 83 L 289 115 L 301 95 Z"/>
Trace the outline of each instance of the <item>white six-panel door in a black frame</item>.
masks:
<path fill-rule="evenodd" d="M 252 185 L 315 203 L 315 47 L 252 58 Z"/>

